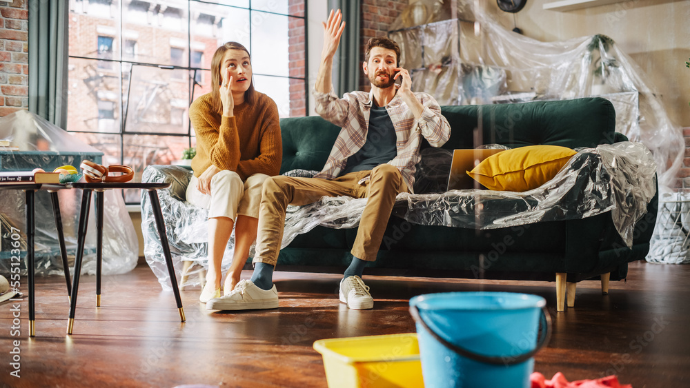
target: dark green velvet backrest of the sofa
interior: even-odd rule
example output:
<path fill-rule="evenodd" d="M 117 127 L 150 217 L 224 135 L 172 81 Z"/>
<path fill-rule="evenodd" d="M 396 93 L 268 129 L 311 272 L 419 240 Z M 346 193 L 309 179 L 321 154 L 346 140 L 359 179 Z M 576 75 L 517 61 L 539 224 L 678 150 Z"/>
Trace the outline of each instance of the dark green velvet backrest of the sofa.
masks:
<path fill-rule="evenodd" d="M 474 148 L 498 143 L 508 147 L 552 144 L 595 147 L 613 143 L 615 110 L 607 99 L 591 97 L 565 101 L 495 105 L 448 105 L 442 114 L 451 124 L 451 139 L 443 148 Z M 482 119 L 482 136 L 474 130 Z M 319 116 L 280 119 L 283 140 L 281 174 L 295 170 L 321 170 L 340 128 Z M 426 143 L 426 142 L 425 142 Z M 428 146 L 428 144 L 427 144 Z"/>

